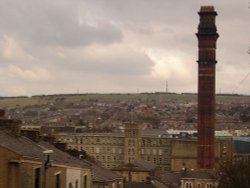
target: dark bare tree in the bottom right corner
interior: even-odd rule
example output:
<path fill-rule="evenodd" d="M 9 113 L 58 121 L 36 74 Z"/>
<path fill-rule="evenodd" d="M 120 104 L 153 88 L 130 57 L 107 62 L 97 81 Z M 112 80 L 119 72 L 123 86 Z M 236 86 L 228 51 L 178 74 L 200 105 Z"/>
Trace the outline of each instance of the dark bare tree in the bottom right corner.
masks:
<path fill-rule="evenodd" d="M 222 165 L 218 188 L 246 188 L 249 186 L 250 160 L 237 160 Z"/>

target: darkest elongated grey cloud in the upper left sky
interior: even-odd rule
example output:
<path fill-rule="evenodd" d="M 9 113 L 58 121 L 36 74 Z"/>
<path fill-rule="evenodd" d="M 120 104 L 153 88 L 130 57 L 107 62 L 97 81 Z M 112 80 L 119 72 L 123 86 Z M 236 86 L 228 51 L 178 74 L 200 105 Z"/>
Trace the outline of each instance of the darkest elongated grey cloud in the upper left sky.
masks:
<path fill-rule="evenodd" d="M 89 45 L 91 43 L 108 44 L 119 42 L 122 34 L 118 28 L 114 28 L 109 23 L 102 23 L 97 28 L 79 25 L 51 27 L 50 29 L 36 28 L 39 31 L 33 32 L 27 36 L 26 40 L 33 40 L 37 45 L 57 45 L 65 47 L 76 47 Z"/>

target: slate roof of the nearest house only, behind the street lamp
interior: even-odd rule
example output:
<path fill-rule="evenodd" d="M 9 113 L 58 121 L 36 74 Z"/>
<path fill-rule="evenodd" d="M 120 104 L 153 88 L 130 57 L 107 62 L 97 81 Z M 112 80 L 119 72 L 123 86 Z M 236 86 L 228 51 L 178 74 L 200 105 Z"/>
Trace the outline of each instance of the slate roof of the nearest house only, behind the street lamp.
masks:
<path fill-rule="evenodd" d="M 43 141 L 33 142 L 26 137 L 13 136 L 11 133 L 6 131 L 0 131 L 0 147 L 7 148 L 17 153 L 22 157 L 22 159 L 34 160 L 38 162 L 42 162 L 44 159 L 43 151 L 53 150 L 53 153 L 50 154 L 52 163 L 89 168 L 89 166 L 83 163 L 81 160 L 58 150 L 49 143 Z"/>

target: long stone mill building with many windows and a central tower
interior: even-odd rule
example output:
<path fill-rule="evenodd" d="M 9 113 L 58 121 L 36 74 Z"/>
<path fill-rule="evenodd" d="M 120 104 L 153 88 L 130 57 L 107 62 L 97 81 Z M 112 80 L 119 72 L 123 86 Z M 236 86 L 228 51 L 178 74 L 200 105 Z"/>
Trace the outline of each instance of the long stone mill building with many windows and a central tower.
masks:
<path fill-rule="evenodd" d="M 172 137 L 166 131 L 145 132 L 135 123 L 126 124 L 123 133 L 60 133 L 55 140 L 67 143 L 68 149 L 86 151 L 108 169 L 117 169 L 135 159 L 152 162 L 161 172 L 178 171 L 183 165 L 197 169 L 197 138 Z M 215 145 L 217 164 L 221 159 L 231 160 L 231 137 L 217 138 Z"/>

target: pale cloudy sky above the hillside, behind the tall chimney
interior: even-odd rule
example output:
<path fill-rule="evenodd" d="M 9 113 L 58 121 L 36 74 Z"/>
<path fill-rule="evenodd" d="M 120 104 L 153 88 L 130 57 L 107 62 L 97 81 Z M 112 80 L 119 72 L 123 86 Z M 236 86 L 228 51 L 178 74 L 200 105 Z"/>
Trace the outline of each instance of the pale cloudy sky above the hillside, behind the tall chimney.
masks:
<path fill-rule="evenodd" d="M 197 92 L 197 12 L 214 5 L 217 92 L 250 94 L 248 0 L 0 0 L 0 96 Z"/>

